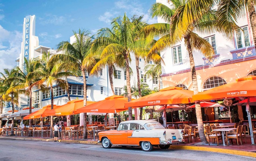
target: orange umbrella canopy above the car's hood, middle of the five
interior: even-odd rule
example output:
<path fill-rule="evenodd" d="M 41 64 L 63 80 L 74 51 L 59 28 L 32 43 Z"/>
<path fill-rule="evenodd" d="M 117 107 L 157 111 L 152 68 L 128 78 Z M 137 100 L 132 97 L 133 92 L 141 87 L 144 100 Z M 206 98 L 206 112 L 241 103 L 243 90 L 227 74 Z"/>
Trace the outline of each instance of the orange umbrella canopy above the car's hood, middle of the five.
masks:
<path fill-rule="evenodd" d="M 105 98 L 99 102 L 96 102 L 92 105 L 84 106 L 77 109 L 76 113 L 89 113 L 89 112 L 98 112 L 98 113 L 115 113 L 128 110 L 128 107 L 124 107 L 124 103 L 127 103 L 128 99 L 124 96 L 113 95 Z"/>

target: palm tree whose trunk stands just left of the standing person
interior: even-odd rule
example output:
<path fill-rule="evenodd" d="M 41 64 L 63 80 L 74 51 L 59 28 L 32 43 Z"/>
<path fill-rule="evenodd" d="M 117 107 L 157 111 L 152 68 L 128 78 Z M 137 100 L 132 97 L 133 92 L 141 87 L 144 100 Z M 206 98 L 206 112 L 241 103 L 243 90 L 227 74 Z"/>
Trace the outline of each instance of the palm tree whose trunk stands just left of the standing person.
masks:
<path fill-rule="evenodd" d="M 43 53 L 41 64 L 39 68 L 31 72 L 31 76 L 38 76 L 40 80 L 31 84 L 31 86 L 43 86 L 46 84 L 47 87 L 50 87 L 51 91 L 51 109 L 53 109 L 53 85 L 59 84 L 60 86 L 65 86 L 65 76 L 70 76 L 72 73 L 64 71 L 61 66 L 62 64 L 56 63 L 53 59 L 50 58 L 50 53 Z M 52 127 L 53 127 L 53 116 L 51 116 L 51 132 L 50 136 L 52 137 Z"/>

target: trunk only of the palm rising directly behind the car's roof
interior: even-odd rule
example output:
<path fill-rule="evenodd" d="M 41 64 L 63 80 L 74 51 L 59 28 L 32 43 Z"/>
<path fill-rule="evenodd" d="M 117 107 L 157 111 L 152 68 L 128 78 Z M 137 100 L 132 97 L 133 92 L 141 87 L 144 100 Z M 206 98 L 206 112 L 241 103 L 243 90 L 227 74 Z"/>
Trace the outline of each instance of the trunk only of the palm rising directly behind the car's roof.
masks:
<path fill-rule="evenodd" d="M 127 88 L 127 98 L 128 102 L 132 100 L 131 93 L 131 82 L 130 82 L 130 72 L 129 72 L 129 52 L 126 51 L 124 54 L 125 68 L 126 68 L 126 88 Z M 132 120 L 132 107 L 128 107 L 129 120 Z"/>

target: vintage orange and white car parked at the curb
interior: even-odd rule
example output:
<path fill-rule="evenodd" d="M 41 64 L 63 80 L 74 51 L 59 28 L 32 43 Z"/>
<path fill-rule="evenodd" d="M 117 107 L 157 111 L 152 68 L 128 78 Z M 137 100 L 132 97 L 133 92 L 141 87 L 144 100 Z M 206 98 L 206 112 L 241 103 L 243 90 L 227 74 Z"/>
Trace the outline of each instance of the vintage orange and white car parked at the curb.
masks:
<path fill-rule="evenodd" d="M 173 143 L 185 142 L 180 129 L 166 129 L 157 121 L 123 121 L 116 130 L 99 132 L 99 141 L 103 148 L 112 145 L 141 146 L 144 151 L 152 151 L 153 146 L 168 149 Z"/>

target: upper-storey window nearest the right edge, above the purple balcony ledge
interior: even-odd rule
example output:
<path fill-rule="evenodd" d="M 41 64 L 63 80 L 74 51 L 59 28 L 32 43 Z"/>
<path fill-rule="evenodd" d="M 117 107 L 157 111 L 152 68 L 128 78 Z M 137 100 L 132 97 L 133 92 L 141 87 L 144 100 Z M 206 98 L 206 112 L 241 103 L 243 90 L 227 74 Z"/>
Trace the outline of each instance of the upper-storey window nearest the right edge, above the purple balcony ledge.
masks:
<path fill-rule="evenodd" d="M 237 48 L 244 48 L 250 46 L 250 39 L 247 26 L 241 29 L 236 29 L 236 44 Z"/>

